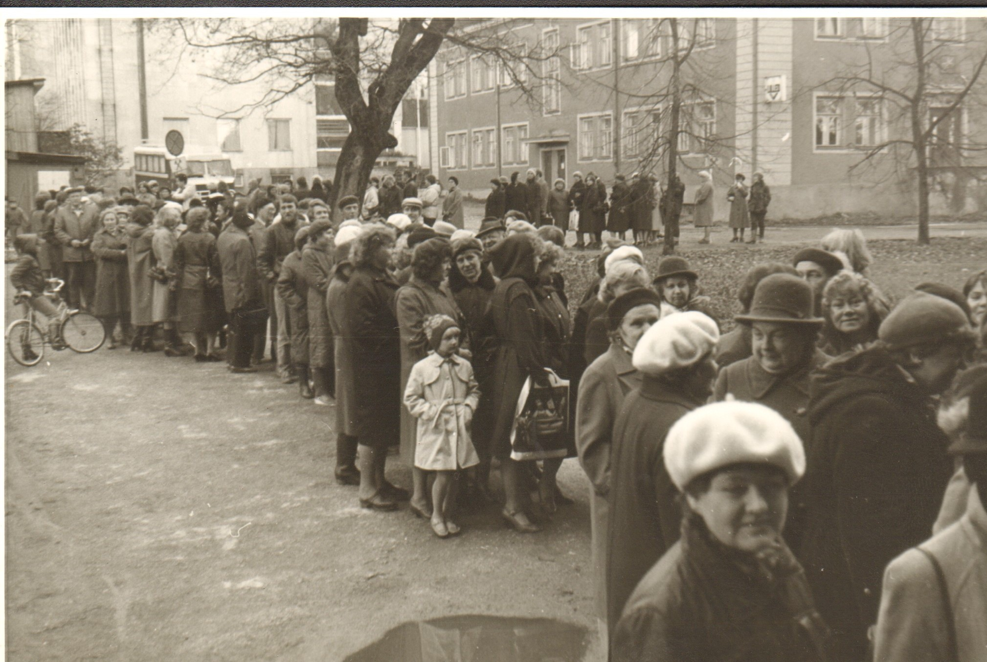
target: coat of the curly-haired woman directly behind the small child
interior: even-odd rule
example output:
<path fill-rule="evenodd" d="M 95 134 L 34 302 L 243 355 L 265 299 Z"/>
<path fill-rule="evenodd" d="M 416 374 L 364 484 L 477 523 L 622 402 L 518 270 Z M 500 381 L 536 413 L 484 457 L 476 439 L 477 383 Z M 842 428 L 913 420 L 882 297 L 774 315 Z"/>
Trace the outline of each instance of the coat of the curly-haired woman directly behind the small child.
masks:
<path fill-rule="evenodd" d="M 426 283 L 413 276 L 408 285 L 395 295 L 395 309 L 398 325 L 401 328 L 401 388 L 405 392 L 412 368 L 428 354 L 428 338 L 422 330 L 425 318 L 444 314 L 459 324 L 460 330 L 466 326 L 463 313 L 456 305 L 456 299 L 445 286 Z M 463 338 L 463 347 L 468 348 L 468 339 Z M 418 424 L 406 407 L 401 408 L 401 455 L 411 461 L 415 457 L 415 435 Z"/>

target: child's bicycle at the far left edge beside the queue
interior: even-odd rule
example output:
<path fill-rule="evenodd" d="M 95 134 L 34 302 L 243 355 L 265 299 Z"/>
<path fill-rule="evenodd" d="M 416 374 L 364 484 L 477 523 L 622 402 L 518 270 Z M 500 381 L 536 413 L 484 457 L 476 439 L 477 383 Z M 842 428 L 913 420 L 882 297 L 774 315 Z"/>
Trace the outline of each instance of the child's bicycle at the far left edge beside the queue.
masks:
<path fill-rule="evenodd" d="M 7 351 L 14 361 L 28 368 L 37 366 L 44 357 L 45 345 L 50 345 L 55 351 L 67 347 L 78 354 L 90 354 L 103 347 L 107 340 L 107 330 L 103 322 L 83 310 L 69 309 L 68 304 L 58 295 L 58 291 L 65 287 L 64 281 L 45 279 L 44 282 L 50 289 L 44 290 L 42 296 L 47 296 L 52 303 L 57 304 L 58 317 L 61 320 L 58 323 L 58 337 L 49 338 L 47 323 L 38 326 L 36 315 L 39 313 L 31 307 L 27 297 L 15 295 L 15 305 L 23 304 L 27 308 L 27 314 L 7 327 Z"/>

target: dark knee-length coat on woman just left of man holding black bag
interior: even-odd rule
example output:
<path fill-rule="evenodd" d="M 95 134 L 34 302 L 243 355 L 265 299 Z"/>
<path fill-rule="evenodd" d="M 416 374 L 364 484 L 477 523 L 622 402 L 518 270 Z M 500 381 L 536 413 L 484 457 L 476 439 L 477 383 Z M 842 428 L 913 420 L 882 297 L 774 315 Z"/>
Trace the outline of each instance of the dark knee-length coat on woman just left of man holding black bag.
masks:
<path fill-rule="evenodd" d="M 216 238 L 211 232 L 186 232 L 175 251 L 178 279 L 178 319 L 181 331 L 215 333 L 223 326 L 216 310 L 216 297 L 209 287 L 209 277 L 217 281 L 222 272 Z"/>

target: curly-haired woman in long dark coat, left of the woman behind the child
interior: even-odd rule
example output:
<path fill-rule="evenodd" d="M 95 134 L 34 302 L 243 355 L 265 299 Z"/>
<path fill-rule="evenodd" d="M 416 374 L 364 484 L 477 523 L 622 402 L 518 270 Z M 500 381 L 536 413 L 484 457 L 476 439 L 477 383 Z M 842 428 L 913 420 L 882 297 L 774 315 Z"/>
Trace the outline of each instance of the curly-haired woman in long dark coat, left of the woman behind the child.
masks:
<path fill-rule="evenodd" d="M 401 337 L 394 314 L 397 282 L 388 273 L 394 231 L 371 226 L 352 241 L 352 275 L 344 296 L 351 340 L 354 433 L 360 455 L 360 506 L 395 510 L 405 490 L 384 477 L 387 450 L 401 434 Z"/>

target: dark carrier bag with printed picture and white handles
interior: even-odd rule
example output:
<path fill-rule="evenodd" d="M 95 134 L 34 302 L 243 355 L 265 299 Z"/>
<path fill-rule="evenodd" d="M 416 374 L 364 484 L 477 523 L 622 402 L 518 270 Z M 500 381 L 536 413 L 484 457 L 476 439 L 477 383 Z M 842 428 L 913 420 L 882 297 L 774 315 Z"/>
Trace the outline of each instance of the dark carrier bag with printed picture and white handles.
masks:
<path fill-rule="evenodd" d="M 550 459 L 569 454 L 569 380 L 546 369 L 548 385 L 529 375 L 521 386 L 510 426 L 510 458 Z"/>

